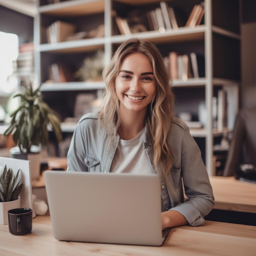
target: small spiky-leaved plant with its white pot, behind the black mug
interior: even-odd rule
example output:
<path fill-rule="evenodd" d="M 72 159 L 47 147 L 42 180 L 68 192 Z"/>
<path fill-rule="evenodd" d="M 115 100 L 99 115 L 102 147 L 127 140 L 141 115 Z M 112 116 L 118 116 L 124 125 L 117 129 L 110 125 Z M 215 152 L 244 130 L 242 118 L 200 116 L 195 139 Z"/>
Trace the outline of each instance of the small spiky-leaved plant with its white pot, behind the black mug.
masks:
<path fill-rule="evenodd" d="M 8 223 L 7 212 L 10 209 L 16 209 L 20 207 L 19 194 L 22 189 L 23 183 L 21 183 L 21 170 L 14 175 L 12 168 L 7 171 L 7 166 L 0 166 L 0 225 Z"/>

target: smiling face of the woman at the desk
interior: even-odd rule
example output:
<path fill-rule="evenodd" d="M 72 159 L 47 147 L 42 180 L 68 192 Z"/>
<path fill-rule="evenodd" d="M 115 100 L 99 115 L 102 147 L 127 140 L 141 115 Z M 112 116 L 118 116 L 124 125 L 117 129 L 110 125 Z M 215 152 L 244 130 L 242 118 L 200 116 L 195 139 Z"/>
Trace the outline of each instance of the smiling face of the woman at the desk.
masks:
<path fill-rule="evenodd" d="M 121 62 L 121 69 L 115 80 L 115 90 L 123 110 L 144 112 L 153 101 L 156 84 L 153 67 L 141 53 L 128 54 Z"/>

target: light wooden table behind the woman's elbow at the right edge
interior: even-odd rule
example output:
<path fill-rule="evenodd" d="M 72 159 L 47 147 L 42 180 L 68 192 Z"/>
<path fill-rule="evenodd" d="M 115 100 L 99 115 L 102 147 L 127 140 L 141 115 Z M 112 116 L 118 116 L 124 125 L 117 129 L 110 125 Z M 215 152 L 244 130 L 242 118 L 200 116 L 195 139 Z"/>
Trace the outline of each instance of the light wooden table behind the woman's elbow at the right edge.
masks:
<path fill-rule="evenodd" d="M 234 177 L 212 176 L 214 209 L 256 213 L 256 184 Z"/>

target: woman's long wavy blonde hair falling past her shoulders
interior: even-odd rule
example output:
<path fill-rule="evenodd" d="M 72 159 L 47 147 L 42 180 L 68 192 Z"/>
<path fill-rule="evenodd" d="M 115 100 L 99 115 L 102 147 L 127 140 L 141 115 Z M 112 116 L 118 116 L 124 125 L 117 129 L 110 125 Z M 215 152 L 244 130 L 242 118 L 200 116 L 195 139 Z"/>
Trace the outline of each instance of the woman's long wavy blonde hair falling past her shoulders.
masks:
<path fill-rule="evenodd" d="M 106 90 L 103 94 L 103 104 L 99 109 L 99 123 L 108 133 L 109 145 L 117 142 L 116 135 L 121 119 L 119 100 L 115 92 L 115 79 L 123 59 L 134 52 L 144 54 L 153 67 L 156 93 L 153 101 L 148 105 L 145 119 L 145 125 L 148 128 L 146 138 L 153 146 L 153 164 L 157 171 L 162 172 L 166 177 L 173 162 L 173 152 L 167 141 L 173 115 L 174 95 L 166 65 L 153 42 L 131 38 L 118 47 L 109 65 L 104 68 L 102 73 Z"/>

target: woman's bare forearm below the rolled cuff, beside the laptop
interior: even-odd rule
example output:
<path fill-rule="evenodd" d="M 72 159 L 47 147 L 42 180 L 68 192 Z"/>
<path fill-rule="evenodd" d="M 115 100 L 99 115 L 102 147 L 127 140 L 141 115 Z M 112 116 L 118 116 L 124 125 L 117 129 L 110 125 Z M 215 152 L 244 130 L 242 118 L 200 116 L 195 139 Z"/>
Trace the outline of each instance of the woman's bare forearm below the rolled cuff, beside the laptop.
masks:
<path fill-rule="evenodd" d="M 168 227 L 183 226 L 188 224 L 186 218 L 181 213 L 175 210 L 162 212 L 161 218 L 162 230 Z"/>

